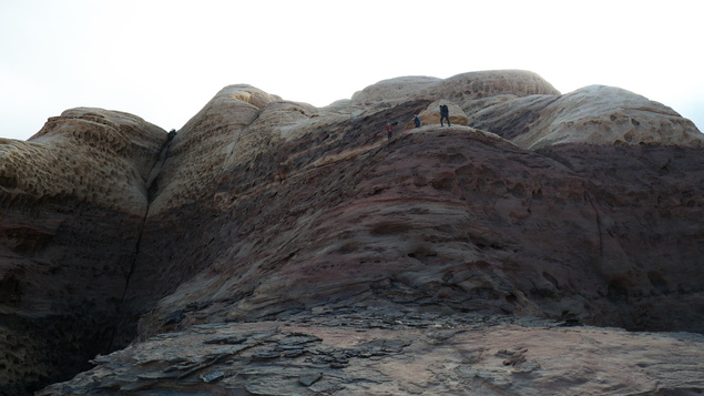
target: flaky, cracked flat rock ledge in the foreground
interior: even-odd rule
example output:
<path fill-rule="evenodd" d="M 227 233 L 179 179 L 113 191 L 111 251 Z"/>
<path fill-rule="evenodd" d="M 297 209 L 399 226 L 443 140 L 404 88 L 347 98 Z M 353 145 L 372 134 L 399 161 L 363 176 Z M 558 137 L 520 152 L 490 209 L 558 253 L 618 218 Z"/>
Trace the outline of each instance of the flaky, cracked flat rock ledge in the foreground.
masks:
<path fill-rule="evenodd" d="M 94 363 L 38 395 L 701 395 L 704 336 L 337 307 L 196 325 Z"/>

